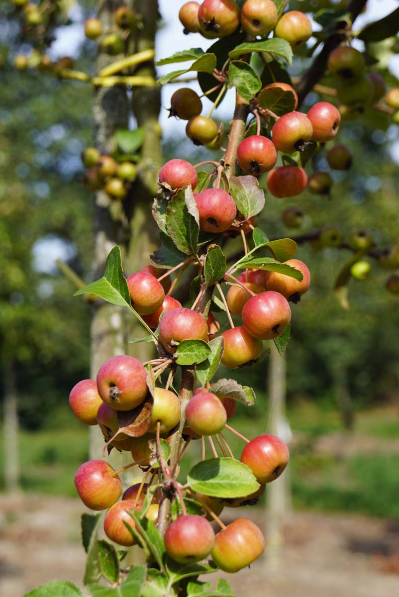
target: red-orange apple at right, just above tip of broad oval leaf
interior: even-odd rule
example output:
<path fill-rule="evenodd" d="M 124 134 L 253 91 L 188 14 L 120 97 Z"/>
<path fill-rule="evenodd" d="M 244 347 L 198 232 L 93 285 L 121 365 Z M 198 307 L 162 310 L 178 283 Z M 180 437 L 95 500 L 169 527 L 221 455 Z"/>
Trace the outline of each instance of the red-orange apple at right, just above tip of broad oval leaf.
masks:
<path fill-rule="evenodd" d="M 258 483 L 270 483 L 286 468 L 290 453 L 282 439 L 265 433 L 245 445 L 241 462 L 251 469 Z"/>

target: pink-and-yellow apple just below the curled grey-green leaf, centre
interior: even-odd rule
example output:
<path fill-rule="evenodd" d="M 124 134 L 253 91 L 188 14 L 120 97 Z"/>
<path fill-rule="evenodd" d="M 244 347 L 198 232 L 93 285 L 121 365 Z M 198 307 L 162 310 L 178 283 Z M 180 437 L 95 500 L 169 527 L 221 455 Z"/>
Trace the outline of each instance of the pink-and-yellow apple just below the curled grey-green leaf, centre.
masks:
<path fill-rule="evenodd" d="M 215 435 L 227 422 L 227 413 L 216 394 L 201 392 L 189 401 L 186 423 L 199 435 Z"/>

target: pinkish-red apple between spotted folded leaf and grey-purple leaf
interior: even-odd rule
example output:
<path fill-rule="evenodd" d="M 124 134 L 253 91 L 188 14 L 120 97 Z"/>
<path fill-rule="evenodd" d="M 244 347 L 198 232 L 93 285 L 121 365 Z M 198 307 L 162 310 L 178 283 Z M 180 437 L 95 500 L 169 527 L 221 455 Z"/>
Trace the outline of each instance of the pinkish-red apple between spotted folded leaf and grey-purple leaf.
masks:
<path fill-rule="evenodd" d="M 223 232 L 237 214 L 234 199 L 223 189 L 205 189 L 194 195 L 199 213 L 199 227 L 205 232 Z"/>

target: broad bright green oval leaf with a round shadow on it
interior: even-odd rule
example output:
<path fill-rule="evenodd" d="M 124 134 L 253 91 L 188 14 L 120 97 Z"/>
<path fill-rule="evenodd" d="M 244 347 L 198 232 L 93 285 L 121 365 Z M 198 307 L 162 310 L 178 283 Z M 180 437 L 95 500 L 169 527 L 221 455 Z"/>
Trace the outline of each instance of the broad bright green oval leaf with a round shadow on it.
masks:
<path fill-rule="evenodd" d="M 192 467 L 187 482 L 193 491 L 212 497 L 244 497 L 260 487 L 247 465 L 234 458 L 211 458 Z"/>

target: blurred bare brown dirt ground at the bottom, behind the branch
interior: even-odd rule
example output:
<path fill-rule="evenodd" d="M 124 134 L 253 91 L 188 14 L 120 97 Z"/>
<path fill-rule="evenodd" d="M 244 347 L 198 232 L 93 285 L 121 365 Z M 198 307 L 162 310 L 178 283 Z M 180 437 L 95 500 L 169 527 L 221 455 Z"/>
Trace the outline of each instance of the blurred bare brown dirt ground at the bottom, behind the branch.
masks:
<path fill-rule="evenodd" d="M 82 586 L 81 511 L 79 500 L 0 496 L 1 597 L 56 579 Z M 262 527 L 259 509 L 242 514 Z M 238 597 L 398 597 L 399 523 L 293 513 L 284 538 L 280 561 L 263 558 L 251 570 L 223 574 Z"/>

